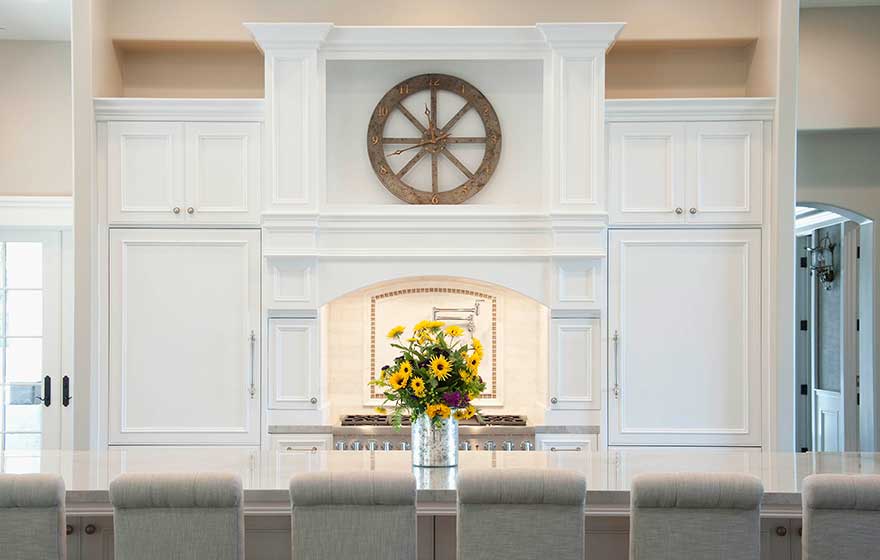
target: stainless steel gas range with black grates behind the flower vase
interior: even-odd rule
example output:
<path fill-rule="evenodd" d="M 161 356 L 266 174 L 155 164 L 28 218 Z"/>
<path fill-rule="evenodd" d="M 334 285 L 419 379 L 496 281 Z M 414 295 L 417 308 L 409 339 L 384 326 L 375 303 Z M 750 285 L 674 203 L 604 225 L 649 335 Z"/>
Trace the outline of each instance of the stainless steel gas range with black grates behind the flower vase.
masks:
<path fill-rule="evenodd" d="M 333 428 L 333 446 L 338 451 L 407 451 L 410 448 L 409 418 L 402 428 L 391 425 L 382 414 L 347 414 Z M 462 451 L 533 451 L 535 429 L 525 416 L 484 415 L 459 422 Z"/>

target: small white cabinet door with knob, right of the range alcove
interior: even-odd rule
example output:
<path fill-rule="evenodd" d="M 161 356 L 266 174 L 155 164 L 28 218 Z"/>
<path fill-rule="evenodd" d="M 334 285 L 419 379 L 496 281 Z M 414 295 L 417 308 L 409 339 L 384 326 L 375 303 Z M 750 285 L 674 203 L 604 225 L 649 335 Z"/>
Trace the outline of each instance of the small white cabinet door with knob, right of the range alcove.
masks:
<path fill-rule="evenodd" d="M 601 323 L 596 318 L 550 320 L 550 408 L 601 408 Z"/>

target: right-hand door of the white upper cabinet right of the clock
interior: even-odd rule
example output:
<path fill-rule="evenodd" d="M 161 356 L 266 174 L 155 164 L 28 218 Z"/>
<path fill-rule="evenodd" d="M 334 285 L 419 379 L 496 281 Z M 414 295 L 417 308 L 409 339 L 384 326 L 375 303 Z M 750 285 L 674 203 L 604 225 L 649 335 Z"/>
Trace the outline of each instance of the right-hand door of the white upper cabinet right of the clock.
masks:
<path fill-rule="evenodd" d="M 763 138 L 760 121 L 688 125 L 689 223 L 761 223 Z"/>

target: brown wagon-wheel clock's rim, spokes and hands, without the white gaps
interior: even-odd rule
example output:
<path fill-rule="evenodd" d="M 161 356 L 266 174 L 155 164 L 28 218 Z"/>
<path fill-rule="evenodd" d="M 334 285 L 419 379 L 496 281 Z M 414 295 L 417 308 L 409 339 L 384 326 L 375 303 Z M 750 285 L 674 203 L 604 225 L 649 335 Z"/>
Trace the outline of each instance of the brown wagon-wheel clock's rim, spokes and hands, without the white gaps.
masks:
<path fill-rule="evenodd" d="M 424 117 L 416 116 L 404 106 L 411 95 L 430 90 Z M 439 91 L 455 94 L 463 100 L 458 112 L 445 123 L 437 122 Z M 444 96 L 444 99 L 448 96 Z M 412 105 L 410 105 L 412 106 Z M 455 127 L 468 112 L 475 111 L 483 124 L 482 136 L 457 136 Z M 412 125 L 409 137 L 385 136 L 385 125 L 395 113 L 402 114 Z M 418 113 L 418 112 L 416 112 Z M 469 169 L 450 149 L 456 144 L 483 146 L 483 158 L 476 169 Z M 379 101 L 367 129 L 367 151 L 376 176 L 394 196 L 410 204 L 458 204 L 482 189 L 498 167 L 501 156 L 501 125 L 489 100 L 466 81 L 446 74 L 421 74 L 391 88 Z M 431 159 L 431 184 L 416 186 L 407 182 L 407 174 L 422 161 Z M 438 178 L 441 159 L 451 163 L 464 177 L 464 182 L 451 189 L 440 190 Z M 403 163 L 394 171 L 390 162 Z"/>

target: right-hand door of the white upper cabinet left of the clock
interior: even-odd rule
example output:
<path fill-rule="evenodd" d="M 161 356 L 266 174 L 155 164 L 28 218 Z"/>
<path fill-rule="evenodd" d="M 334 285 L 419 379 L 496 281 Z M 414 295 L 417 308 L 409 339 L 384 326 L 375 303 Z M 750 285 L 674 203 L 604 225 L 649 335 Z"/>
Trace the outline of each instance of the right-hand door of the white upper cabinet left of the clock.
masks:
<path fill-rule="evenodd" d="M 186 125 L 187 221 L 259 222 L 260 124 Z"/>

